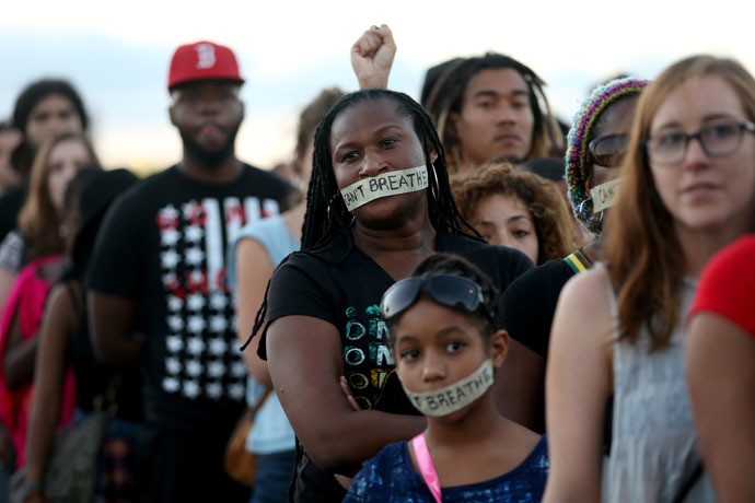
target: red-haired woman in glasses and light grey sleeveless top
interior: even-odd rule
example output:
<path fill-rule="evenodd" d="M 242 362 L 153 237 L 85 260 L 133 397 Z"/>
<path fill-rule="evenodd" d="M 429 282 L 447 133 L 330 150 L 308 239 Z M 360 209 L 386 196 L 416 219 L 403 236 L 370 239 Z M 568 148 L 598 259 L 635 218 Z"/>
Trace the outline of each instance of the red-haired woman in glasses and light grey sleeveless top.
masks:
<path fill-rule="evenodd" d="M 706 262 L 755 210 L 754 118 L 755 80 L 729 59 L 684 59 L 642 92 L 605 265 L 573 278 L 556 309 L 546 501 L 713 501 L 695 440 L 683 320 Z"/>

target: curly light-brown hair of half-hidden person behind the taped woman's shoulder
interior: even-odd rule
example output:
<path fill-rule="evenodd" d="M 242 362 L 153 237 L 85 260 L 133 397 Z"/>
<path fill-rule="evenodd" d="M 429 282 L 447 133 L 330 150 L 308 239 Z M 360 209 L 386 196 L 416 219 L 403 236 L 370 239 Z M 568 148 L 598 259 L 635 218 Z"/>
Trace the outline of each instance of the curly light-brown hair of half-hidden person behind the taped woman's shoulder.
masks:
<path fill-rule="evenodd" d="M 485 198 L 497 194 L 516 197 L 535 226 L 537 265 L 564 258 L 581 244 L 558 187 L 534 173 L 504 162 L 489 163 L 469 176 L 452 179 L 452 189 L 458 211 L 469 222 Z"/>

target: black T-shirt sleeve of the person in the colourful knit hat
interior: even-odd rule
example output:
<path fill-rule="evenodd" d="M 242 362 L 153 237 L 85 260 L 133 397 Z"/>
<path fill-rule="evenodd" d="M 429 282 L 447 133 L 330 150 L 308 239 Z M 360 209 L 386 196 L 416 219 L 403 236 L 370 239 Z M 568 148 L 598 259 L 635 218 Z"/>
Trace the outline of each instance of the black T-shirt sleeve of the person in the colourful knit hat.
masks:
<path fill-rule="evenodd" d="M 550 260 L 516 278 L 503 293 L 503 328 L 546 360 L 558 296 L 572 276 L 566 260 Z"/>

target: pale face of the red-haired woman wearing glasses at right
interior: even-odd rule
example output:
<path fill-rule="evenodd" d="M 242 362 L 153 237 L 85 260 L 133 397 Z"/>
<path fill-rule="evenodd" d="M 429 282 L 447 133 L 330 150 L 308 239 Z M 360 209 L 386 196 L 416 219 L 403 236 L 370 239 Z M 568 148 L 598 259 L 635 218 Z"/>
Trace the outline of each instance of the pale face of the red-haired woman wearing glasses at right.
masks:
<path fill-rule="evenodd" d="M 674 89 L 650 124 L 650 137 L 669 141 L 702 128 L 750 119 L 734 90 L 720 77 L 695 77 Z M 755 136 L 745 131 L 739 149 L 711 156 L 690 139 L 681 161 L 659 164 L 649 152 L 655 187 L 675 223 L 687 230 L 721 231 L 746 225 L 755 209 Z"/>

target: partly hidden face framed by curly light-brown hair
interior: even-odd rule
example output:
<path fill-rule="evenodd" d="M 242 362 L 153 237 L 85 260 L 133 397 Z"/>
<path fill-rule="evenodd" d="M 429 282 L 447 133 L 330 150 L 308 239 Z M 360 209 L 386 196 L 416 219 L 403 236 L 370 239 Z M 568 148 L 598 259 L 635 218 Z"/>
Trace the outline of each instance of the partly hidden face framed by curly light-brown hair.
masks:
<path fill-rule="evenodd" d="M 516 248 L 539 264 L 535 221 L 516 196 L 493 194 L 484 198 L 477 203 L 472 225 L 488 243 Z"/>

